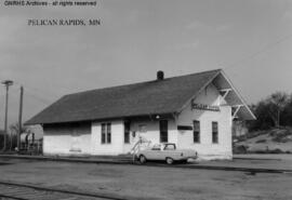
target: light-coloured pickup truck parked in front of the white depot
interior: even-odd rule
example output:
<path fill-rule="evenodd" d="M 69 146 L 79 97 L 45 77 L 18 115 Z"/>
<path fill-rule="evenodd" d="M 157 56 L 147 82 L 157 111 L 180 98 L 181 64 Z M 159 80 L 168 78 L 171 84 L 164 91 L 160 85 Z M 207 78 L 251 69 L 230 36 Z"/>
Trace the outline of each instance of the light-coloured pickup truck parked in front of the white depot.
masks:
<path fill-rule="evenodd" d="M 187 162 L 188 159 L 196 159 L 197 156 L 196 150 L 176 149 L 173 143 L 157 144 L 136 154 L 141 163 L 145 163 L 147 160 L 164 160 L 168 164 L 172 164 L 174 161 Z"/>

